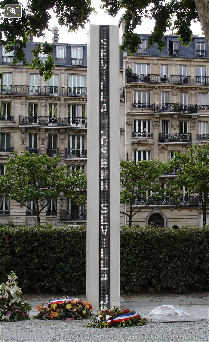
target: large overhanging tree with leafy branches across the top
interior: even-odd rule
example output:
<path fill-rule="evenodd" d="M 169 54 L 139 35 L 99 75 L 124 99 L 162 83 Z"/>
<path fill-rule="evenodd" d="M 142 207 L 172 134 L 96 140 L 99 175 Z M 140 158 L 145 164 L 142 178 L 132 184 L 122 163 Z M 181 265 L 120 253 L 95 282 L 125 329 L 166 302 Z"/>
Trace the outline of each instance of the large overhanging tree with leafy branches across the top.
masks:
<path fill-rule="evenodd" d="M 14 64 L 22 61 L 23 65 L 29 66 L 24 53 L 24 47 L 28 36 L 44 37 L 44 29 L 48 29 L 48 21 L 51 19 L 49 10 L 53 10 L 58 18 L 59 25 L 66 25 L 69 31 L 76 31 L 83 28 L 89 21 L 91 13 L 95 13 L 90 0 L 31 0 L 23 9 L 22 18 L 4 18 L 4 6 L 8 1 L 1 1 L 1 44 L 6 52 L 15 51 Z M 26 1 L 25 1 L 26 2 Z M 19 4 L 19 1 L 12 0 L 10 4 Z M 197 6 L 197 9 L 196 9 Z M 200 20 L 204 34 L 208 42 L 208 1 L 194 0 L 166 0 L 166 1 L 145 1 L 145 0 L 107 0 L 102 1 L 101 6 L 108 14 L 115 16 L 120 9 L 124 9 L 123 19 L 125 21 L 125 39 L 122 50 L 127 48 L 131 53 L 136 52 L 141 40 L 133 31 L 137 25 L 142 23 L 143 17 L 154 18 L 155 27 L 148 39 L 149 47 L 154 43 L 162 50 L 165 43 L 162 40 L 167 28 L 172 28 L 179 35 L 183 44 L 189 44 L 192 37 L 190 29 L 191 22 Z M 199 16 L 198 16 L 199 15 Z M 48 43 L 37 44 L 33 50 L 33 61 L 31 68 L 39 67 L 40 75 L 47 80 L 52 76 L 54 61 L 51 56 L 53 46 Z M 43 52 L 48 57 L 41 64 L 38 53 Z"/>

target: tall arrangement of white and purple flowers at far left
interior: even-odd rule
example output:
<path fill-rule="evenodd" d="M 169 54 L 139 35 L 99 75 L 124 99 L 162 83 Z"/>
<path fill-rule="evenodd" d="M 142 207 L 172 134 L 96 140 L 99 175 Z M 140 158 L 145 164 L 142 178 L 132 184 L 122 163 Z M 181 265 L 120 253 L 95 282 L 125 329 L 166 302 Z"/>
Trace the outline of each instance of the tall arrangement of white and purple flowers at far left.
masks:
<path fill-rule="evenodd" d="M 20 298 L 22 291 L 17 286 L 17 276 L 11 272 L 8 278 L 5 284 L 0 285 L 0 320 L 16 322 L 30 319 L 28 311 L 31 310 L 31 305 Z"/>

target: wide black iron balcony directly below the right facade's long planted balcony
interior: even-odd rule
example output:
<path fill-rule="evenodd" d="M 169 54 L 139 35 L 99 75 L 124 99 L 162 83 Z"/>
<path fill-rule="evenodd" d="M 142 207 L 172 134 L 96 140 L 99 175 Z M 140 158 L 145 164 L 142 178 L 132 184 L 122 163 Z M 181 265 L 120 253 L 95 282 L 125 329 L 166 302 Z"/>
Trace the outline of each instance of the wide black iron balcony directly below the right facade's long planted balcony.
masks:
<path fill-rule="evenodd" d="M 154 110 L 169 113 L 197 113 L 197 104 L 154 103 Z"/>

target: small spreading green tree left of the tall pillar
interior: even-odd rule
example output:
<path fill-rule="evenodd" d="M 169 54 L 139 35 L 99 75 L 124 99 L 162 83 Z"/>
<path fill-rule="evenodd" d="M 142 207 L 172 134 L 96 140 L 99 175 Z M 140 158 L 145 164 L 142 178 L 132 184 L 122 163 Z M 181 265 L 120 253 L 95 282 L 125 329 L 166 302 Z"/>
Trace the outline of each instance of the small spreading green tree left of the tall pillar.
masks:
<path fill-rule="evenodd" d="M 28 201 L 34 201 L 32 210 L 40 223 L 40 213 L 53 198 L 64 193 L 76 204 L 86 201 L 86 175 L 80 170 L 73 172 L 67 165 L 56 167 L 59 157 L 30 154 L 27 151 L 19 156 L 17 152 L 7 159 L 6 175 L 1 175 L 1 195 L 19 202 L 28 210 Z M 41 207 L 40 201 L 46 201 Z"/>

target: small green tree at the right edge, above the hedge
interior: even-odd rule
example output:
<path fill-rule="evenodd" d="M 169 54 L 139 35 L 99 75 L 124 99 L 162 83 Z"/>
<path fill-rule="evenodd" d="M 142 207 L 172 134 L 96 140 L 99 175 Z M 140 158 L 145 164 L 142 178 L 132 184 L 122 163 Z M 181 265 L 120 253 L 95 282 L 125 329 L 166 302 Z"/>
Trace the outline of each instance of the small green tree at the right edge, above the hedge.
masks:
<path fill-rule="evenodd" d="M 209 177 L 209 145 L 194 145 L 188 153 L 175 152 L 169 163 L 171 170 L 175 170 L 178 177 L 169 182 L 169 193 L 178 201 L 182 195 L 183 186 L 187 188 L 187 195 L 198 194 L 203 208 L 203 224 L 206 223 L 208 206 L 208 177 Z"/>

